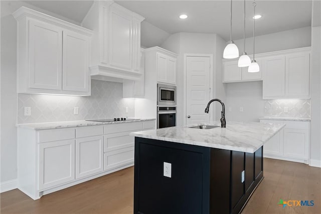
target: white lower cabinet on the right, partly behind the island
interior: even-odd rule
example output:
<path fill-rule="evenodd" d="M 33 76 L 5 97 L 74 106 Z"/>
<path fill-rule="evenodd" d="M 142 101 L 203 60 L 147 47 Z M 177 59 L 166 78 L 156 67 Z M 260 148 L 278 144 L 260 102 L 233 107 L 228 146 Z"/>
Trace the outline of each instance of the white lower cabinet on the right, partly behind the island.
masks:
<path fill-rule="evenodd" d="M 283 130 L 264 144 L 264 157 L 309 163 L 309 121 L 260 121 L 263 123 L 285 123 Z"/>

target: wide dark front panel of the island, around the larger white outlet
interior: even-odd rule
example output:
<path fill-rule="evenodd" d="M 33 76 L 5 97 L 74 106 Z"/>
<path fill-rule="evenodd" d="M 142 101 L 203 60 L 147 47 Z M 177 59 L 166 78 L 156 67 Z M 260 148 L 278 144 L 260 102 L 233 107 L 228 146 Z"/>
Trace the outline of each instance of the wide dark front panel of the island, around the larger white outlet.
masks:
<path fill-rule="evenodd" d="M 140 144 L 139 152 L 138 210 L 141 213 L 202 210 L 202 153 L 144 143 Z M 172 163 L 171 178 L 163 176 L 164 162 Z"/>

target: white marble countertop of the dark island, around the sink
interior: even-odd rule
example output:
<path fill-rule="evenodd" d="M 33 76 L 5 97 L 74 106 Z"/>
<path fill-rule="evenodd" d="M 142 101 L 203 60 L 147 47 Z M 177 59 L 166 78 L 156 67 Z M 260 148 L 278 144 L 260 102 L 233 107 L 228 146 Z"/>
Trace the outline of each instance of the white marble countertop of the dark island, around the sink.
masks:
<path fill-rule="evenodd" d="M 191 126 L 196 125 L 199 124 Z M 132 132 L 130 135 L 253 153 L 285 126 L 283 123 L 243 123 L 231 121 L 227 121 L 226 128 L 221 128 L 221 123 L 216 121 L 206 123 L 206 125 L 217 125 L 219 127 L 213 129 L 195 129 L 176 126 Z"/>

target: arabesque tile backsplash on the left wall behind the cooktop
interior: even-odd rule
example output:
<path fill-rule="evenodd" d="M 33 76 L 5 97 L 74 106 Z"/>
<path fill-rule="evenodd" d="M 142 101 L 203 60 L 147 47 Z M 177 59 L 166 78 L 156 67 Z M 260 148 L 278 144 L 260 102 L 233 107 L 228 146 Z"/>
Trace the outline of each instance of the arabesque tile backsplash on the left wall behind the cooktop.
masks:
<path fill-rule="evenodd" d="M 31 116 L 25 116 L 31 107 Z M 79 114 L 74 115 L 74 107 Z M 125 113 L 128 107 L 128 113 Z M 133 117 L 134 99 L 122 98 L 122 83 L 91 80 L 91 96 L 18 94 L 17 123 Z"/>

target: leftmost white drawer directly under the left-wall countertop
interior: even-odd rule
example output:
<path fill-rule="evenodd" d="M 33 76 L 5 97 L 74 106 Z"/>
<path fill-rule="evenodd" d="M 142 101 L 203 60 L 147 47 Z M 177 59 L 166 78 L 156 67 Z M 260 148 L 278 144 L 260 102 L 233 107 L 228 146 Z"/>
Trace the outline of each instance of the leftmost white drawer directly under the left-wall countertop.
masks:
<path fill-rule="evenodd" d="M 46 129 L 37 132 L 39 143 L 75 138 L 75 128 Z"/>

